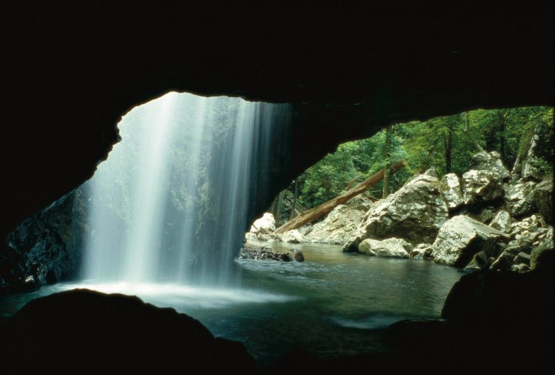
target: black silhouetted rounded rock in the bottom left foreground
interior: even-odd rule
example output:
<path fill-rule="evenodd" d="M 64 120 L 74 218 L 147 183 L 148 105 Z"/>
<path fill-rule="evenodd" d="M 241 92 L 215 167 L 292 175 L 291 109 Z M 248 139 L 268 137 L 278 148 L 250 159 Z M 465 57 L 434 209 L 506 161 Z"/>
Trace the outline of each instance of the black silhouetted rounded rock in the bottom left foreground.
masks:
<path fill-rule="evenodd" d="M 70 290 L 35 299 L 0 326 L 0 373 L 252 373 L 237 342 L 137 297 Z M 48 372 L 48 371 L 47 371 Z"/>

